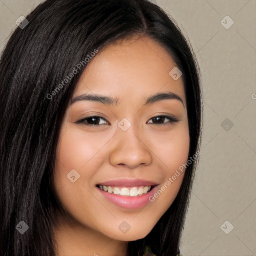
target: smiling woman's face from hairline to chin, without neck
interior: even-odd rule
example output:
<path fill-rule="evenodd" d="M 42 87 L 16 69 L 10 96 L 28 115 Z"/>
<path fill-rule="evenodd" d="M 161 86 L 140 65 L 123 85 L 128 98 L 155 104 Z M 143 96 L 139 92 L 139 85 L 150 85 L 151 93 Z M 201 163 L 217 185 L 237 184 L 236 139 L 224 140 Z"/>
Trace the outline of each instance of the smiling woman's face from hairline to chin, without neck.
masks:
<path fill-rule="evenodd" d="M 57 195 L 82 228 L 141 239 L 174 201 L 184 175 L 175 173 L 189 152 L 185 91 L 182 77 L 169 74 L 174 67 L 146 36 L 112 44 L 87 65 L 54 172 Z"/>

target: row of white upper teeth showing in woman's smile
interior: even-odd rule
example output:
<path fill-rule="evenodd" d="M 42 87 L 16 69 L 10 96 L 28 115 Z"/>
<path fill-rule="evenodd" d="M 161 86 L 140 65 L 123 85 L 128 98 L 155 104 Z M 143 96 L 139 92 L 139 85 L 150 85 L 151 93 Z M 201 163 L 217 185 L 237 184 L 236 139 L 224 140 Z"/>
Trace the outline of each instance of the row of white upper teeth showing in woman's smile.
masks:
<path fill-rule="evenodd" d="M 135 186 L 131 188 L 127 187 L 116 187 L 116 186 L 99 186 L 100 189 L 108 193 L 114 193 L 117 195 L 128 195 L 128 196 L 137 196 L 146 194 L 150 191 L 151 186 Z"/>

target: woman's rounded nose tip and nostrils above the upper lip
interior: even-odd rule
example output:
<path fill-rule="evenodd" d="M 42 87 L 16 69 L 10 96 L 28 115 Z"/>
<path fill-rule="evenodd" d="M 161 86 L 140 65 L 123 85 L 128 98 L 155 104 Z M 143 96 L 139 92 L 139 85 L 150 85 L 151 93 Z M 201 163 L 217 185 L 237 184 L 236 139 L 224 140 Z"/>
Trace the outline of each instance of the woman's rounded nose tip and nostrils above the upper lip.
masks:
<path fill-rule="evenodd" d="M 141 136 L 140 138 L 132 128 L 125 132 L 119 130 L 115 135 L 115 141 L 112 143 L 113 148 L 109 157 L 110 163 L 114 166 L 126 165 L 130 169 L 140 165 L 151 164 L 151 150 L 146 145 L 146 141 L 143 141 L 144 137 Z"/>

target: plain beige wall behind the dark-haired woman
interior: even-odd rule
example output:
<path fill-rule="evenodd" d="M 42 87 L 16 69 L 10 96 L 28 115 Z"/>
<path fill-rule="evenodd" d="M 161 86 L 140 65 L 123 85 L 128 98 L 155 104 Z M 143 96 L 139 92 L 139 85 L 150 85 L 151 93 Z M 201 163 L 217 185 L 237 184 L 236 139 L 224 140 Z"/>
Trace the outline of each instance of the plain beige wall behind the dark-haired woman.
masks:
<path fill-rule="evenodd" d="M 0 51 L 16 19 L 39 2 L 0 0 Z M 202 73 L 201 156 L 181 251 L 186 256 L 256 255 L 256 1 L 152 2 L 189 38 Z M 220 23 L 226 15 L 234 21 L 229 29 Z M 226 118 L 228 131 L 221 126 Z M 226 220 L 234 226 L 229 234 L 220 228 Z M 230 226 L 224 224 L 223 230 Z"/>

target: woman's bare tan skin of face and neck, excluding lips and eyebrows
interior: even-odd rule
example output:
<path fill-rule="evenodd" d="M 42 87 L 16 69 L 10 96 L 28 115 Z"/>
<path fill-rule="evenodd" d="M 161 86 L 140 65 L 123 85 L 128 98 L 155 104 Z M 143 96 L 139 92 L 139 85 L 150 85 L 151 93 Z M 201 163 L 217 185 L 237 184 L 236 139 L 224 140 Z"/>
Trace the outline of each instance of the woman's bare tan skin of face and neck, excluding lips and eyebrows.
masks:
<path fill-rule="evenodd" d="M 96 184 L 141 178 L 161 187 L 186 163 L 186 98 L 182 77 L 175 81 L 169 75 L 175 66 L 170 54 L 147 36 L 111 44 L 87 65 L 73 98 L 96 93 L 116 97 L 118 104 L 80 100 L 66 111 L 54 183 L 70 221 L 60 219 L 55 230 L 58 255 L 126 255 L 128 241 L 145 237 L 174 201 L 184 173 L 143 209 L 116 206 L 97 190 Z M 143 106 L 147 97 L 159 92 L 175 93 L 184 105 L 177 99 L 164 99 Z M 152 120 L 161 115 L 174 116 L 178 122 Z M 98 126 L 86 125 L 86 120 L 75 123 L 89 116 L 104 119 L 94 120 Z M 131 123 L 127 131 L 118 127 L 123 118 Z M 74 183 L 67 178 L 72 169 L 80 175 Z M 125 234 L 118 229 L 122 221 L 131 226 Z"/>

